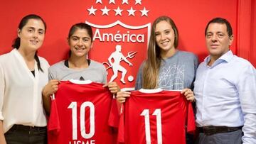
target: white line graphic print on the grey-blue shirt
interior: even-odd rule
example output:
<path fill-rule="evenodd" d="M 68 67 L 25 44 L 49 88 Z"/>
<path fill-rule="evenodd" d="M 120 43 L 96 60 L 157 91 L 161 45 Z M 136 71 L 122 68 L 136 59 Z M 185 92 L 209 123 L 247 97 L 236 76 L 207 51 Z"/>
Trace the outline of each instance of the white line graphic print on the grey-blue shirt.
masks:
<path fill-rule="evenodd" d="M 163 67 L 159 74 L 159 88 L 184 89 L 185 65 Z"/>

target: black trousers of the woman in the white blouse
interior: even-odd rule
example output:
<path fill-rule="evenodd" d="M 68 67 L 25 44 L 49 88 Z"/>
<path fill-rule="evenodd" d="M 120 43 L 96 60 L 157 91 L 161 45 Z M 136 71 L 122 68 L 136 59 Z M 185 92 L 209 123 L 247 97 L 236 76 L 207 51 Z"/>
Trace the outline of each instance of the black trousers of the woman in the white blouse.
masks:
<path fill-rule="evenodd" d="M 47 128 L 14 125 L 4 133 L 7 144 L 47 144 Z"/>

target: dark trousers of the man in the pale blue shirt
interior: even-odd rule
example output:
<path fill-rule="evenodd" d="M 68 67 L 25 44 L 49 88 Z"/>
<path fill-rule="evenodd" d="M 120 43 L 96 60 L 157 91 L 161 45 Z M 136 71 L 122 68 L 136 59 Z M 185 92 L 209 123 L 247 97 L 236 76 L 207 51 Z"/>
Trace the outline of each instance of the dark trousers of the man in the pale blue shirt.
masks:
<path fill-rule="evenodd" d="M 242 130 L 213 135 L 199 133 L 196 144 L 242 144 Z"/>

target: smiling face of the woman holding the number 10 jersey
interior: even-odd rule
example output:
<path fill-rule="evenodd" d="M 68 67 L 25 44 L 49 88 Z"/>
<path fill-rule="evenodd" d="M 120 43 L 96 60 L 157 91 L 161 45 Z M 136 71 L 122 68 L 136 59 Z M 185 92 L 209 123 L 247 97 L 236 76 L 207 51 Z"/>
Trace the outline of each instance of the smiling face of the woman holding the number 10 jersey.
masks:
<path fill-rule="evenodd" d="M 92 38 L 86 29 L 77 28 L 73 35 L 68 38 L 71 57 L 84 57 L 92 48 Z"/>

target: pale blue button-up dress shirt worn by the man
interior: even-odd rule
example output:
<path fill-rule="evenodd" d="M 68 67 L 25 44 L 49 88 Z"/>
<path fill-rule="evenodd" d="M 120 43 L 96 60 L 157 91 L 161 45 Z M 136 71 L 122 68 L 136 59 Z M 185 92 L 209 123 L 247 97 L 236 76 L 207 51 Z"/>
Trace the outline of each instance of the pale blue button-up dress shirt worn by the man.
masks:
<path fill-rule="evenodd" d="M 194 82 L 197 126 L 243 126 L 243 143 L 256 143 L 255 68 L 231 51 L 212 66 L 209 60 L 199 65 Z"/>

